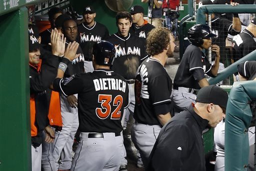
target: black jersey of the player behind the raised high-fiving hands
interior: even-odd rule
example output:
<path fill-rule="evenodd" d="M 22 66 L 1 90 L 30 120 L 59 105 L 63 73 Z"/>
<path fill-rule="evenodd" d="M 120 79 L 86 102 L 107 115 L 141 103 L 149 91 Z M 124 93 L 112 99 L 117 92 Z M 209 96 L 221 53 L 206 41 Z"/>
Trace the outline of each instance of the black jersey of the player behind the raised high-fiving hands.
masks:
<path fill-rule="evenodd" d="M 65 44 L 67 46 L 67 43 Z M 67 68 L 65 70 L 64 76 L 69 77 L 75 73 L 84 73 L 84 56 L 82 53 L 82 49 L 80 46 L 78 46 L 78 49 L 76 51 L 76 54 L 81 54 L 75 59 L 73 59 L 71 62 L 67 64 Z"/>

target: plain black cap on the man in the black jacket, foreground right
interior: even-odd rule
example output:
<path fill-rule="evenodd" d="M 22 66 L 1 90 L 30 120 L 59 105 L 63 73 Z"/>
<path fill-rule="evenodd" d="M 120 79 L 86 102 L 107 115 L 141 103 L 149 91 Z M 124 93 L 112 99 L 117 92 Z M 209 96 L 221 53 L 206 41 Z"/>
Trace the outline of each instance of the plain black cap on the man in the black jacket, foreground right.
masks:
<path fill-rule="evenodd" d="M 204 86 L 197 92 L 195 102 L 213 103 L 226 108 L 228 93 L 216 85 Z"/>

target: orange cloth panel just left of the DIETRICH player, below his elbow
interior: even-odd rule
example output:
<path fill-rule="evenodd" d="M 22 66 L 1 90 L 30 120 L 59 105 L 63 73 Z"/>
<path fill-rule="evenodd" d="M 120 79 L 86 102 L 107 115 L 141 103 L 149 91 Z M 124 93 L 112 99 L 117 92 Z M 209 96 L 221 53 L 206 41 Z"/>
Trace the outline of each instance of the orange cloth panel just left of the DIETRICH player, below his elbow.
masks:
<path fill-rule="evenodd" d="M 51 126 L 61 126 L 62 118 L 60 113 L 60 99 L 56 91 L 51 91 L 48 119 Z"/>

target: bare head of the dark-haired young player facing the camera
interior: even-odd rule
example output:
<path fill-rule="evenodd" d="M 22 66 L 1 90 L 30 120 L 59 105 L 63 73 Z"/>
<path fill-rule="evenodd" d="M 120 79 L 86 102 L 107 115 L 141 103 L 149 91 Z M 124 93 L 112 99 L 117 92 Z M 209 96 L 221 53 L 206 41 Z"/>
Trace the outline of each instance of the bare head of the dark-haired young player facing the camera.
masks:
<path fill-rule="evenodd" d="M 117 12 L 115 20 L 116 26 L 118 28 L 118 33 L 124 37 L 127 36 L 132 23 L 130 13 L 126 11 Z"/>

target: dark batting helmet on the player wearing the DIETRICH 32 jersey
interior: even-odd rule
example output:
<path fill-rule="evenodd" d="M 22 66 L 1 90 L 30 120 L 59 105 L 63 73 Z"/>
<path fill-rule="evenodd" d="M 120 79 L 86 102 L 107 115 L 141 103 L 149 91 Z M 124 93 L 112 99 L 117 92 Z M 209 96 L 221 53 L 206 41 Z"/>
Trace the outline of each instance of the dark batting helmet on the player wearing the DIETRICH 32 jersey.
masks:
<path fill-rule="evenodd" d="M 108 41 L 98 41 L 93 45 L 94 60 L 99 65 L 111 66 L 114 60 L 115 48 Z"/>

